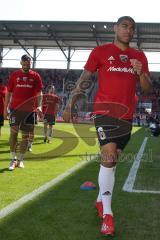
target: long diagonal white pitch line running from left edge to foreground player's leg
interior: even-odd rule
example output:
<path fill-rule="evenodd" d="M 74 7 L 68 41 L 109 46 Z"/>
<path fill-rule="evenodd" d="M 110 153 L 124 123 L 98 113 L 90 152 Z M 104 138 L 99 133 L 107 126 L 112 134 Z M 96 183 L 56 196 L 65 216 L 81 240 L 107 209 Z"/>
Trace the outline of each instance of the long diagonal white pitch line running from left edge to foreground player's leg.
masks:
<path fill-rule="evenodd" d="M 28 201 L 33 200 L 35 197 L 37 197 L 41 193 L 45 192 L 49 188 L 55 186 L 57 183 L 61 182 L 66 177 L 70 176 L 72 173 L 74 173 L 75 171 L 79 170 L 80 168 L 82 168 L 83 166 L 87 165 L 88 163 L 89 163 L 89 161 L 87 161 L 87 160 L 78 163 L 76 166 L 70 168 L 69 170 L 67 170 L 63 174 L 61 174 L 58 177 L 52 179 L 50 182 L 45 183 L 41 187 L 35 189 L 33 192 L 25 195 L 24 197 L 18 199 L 17 201 L 9 204 L 7 207 L 1 209 L 0 210 L 0 219 L 4 218 L 7 215 L 9 215 L 10 213 L 14 212 L 16 209 L 18 209 L 19 207 L 21 207 L 23 204 L 27 203 Z"/>

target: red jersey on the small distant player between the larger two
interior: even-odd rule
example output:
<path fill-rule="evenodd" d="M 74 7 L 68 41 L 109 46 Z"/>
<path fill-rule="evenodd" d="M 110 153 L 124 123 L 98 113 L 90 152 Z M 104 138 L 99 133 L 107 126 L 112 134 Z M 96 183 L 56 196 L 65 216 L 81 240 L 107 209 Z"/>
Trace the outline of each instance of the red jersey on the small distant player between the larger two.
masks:
<path fill-rule="evenodd" d="M 59 102 L 59 97 L 55 94 L 43 95 L 43 113 L 55 115 L 56 105 Z"/>

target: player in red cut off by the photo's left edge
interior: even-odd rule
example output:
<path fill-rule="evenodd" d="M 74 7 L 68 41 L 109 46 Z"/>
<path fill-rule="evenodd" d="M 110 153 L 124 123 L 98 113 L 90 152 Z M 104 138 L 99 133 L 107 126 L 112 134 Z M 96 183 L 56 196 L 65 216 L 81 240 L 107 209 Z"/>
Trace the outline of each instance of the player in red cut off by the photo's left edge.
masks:
<path fill-rule="evenodd" d="M 1 136 L 1 127 L 4 125 L 4 99 L 7 93 L 7 87 L 3 85 L 3 80 L 0 79 L 0 136 Z"/>

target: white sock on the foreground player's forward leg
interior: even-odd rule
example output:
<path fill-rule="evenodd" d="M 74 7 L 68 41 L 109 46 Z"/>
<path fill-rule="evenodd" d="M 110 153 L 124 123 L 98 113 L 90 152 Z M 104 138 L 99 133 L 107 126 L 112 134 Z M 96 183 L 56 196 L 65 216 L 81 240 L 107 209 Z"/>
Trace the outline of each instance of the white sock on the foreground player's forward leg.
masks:
<path fill-rule="evenodd" d="M 101 165 L 98 182 L 103 203 L 103 215 L 113 215 L 111 209 L 111 200 L 115 183 L 115 167 L 106 168 Z"/>

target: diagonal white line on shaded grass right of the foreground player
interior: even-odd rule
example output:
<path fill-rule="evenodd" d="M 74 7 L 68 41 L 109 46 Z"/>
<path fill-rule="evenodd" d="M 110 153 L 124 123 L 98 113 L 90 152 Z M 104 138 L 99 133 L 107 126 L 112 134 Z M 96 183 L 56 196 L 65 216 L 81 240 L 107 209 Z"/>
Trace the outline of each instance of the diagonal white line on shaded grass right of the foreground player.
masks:
<path fill-rule="evenodd" d="M 145 149 L 145 146 L 146 146 L 146 143 L 147 143 L 147 140 L 148 140 L 148 137 L 145 137 L 143 142 L 142 142 L 142 145 L 139 149 L 139 152 L 136 156 L 136 159 L 134 160 L 133 162 L 133 165 L 130 169 L 130 172 L 129 172 L 129 175 L 123 185 L 123 191 L 126 191 L 126 192 L 133 192 L 133 186 L 134 186 L 134 183 L 135 183 L 135 180 L 136 180 L 136 175 L 137 175 L 137 171 L 138 171 L 138 168 L 140 166 L 140 162 L 141 162 L 141 159 L 142 159 L 142 156 L 143 156 L 143 152 L 144 152 L 144 149 Z"/>

